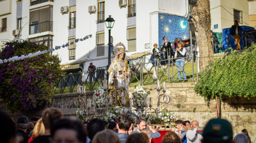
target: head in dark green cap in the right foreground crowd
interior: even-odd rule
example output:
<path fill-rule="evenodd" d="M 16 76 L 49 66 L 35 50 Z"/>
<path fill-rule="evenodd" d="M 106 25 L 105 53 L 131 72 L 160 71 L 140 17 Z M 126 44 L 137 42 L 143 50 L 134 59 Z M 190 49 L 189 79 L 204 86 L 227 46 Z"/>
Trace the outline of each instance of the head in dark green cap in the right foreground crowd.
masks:
<path fill-rule="evenodd" d="M 211 119 L 205 126 L 203 132 L 204 143 L 231 143 L 233 130 L 231 124 L 225 119 Z"/>

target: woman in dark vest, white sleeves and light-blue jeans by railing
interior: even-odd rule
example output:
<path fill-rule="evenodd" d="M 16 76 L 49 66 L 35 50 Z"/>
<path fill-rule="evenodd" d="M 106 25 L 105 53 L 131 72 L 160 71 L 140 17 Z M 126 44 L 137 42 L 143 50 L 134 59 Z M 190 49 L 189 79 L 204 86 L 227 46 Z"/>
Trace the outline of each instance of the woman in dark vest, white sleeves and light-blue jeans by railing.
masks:
<path fill-rule="evenodd" d="M 178 70 L 178 77 L 179 77 L 179 82 L 181 82 L 181 75 L 180 75 L 180 70 L 179 67 L 183 67 L 185 65 L 185 54 L 186 54 L 186 49 L 184 48 L 184 43 L 183 41 L 178 41 L 177 42 L 177 49 L 175 52 L 175 61 L 176 61 L 176 65 L 177 65 L 177 70 Z M 184 72 L 184 70 L 182 70 L 182 75 L 185 79 L 184 82 L 187 82 L 187 77 L 186 77 L 186 73 Z"/>

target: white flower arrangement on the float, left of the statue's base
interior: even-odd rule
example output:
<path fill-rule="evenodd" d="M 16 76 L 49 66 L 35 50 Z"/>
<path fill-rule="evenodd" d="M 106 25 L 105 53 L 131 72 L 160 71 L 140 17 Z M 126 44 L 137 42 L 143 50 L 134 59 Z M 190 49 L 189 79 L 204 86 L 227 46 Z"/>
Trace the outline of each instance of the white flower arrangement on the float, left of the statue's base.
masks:
<path fill-rule="evenodd" d="M 102 86 L 97 87 L 92 99 L 92 103 L 95 107 L 106 107 L 109 104 L 108 93 L 105 93 Z"/>

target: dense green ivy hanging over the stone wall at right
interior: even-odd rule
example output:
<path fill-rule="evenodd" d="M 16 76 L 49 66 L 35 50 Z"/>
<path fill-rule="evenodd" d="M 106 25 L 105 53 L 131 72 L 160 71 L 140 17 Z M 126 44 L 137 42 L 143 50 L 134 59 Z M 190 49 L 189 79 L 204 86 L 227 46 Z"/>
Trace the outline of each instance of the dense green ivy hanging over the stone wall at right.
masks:
<path fill-rule="evenodd" d="M 230 52 L 223 59 L 215 58 L 200 72 L 195 91 L 205 99 L 216 96 L 256 96 L 256 49 L 255 45 L 237 52 Z"/>

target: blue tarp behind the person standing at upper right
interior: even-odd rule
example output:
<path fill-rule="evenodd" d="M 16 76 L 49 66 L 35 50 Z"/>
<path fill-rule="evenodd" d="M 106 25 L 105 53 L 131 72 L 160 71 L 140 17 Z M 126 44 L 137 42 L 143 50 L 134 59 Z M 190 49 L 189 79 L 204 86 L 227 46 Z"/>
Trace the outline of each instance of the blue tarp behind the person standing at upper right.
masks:
<path fill-rule="evenodd" d="M 248 30 L 254 29 L 254 27 L 250 27 L 250 26 L 241 26 L 241 28 L 242 28 L 241 33 L 243 33 L 243 31 L 248 31 Z M 230 30 L 231 30 L 231 28 L 222 29 L 222 31 L 223 31 L 223 49 L 224 50 L 227 50 L 228 47 L 232 47 L 232 49 L 236 50 L 236 47 L 237 47 L 237 45 L 235 45 L 234 36 L 230 36 Z M 241 45 L 241 49 L 243 49 L 243 47 L 244 47 L 243 34 L 240 39 L 240 45 Z M 227 51 L 229 51 L 229 50 L 227 50 Z"/>

